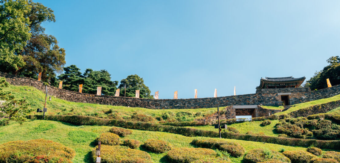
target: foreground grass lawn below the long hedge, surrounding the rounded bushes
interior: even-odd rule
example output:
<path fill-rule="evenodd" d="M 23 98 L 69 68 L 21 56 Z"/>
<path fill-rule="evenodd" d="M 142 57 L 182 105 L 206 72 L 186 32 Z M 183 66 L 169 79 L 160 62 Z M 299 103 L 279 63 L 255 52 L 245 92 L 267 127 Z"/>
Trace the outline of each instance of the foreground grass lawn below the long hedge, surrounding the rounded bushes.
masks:
<path fill-rule="evenodd" d="M 18 123 L 12 123 L 8 126 L 0 127 L 0 144 L 8 142 L 8 141 L 17 141 L 17 140 L 31 140 L 31 139 L 48 139 L 54 142 L 58 142 L 64 144 L 76 151 L 76 156 L 72 160 L 74 163 L 82 163 L 82 162 L 91 162 L 90 159 L 90 151 L 95 147 L 96 143 L 94 140 L 98 135 L 102 132 L 107 132 L 109 130 L 109 126 L 74 126 L 67 123 L 56 122 L 56 121 L 44 121 L 44 120 L 28 120 L 27 122 L 19 125 Z M 185 137 L 179 134 L 172 134 L 166 132 L 155 132 L 155 131 L 142 131 L 142 130 L 133 130 L 131 135 L 126 136 L 122 139 L 136 139 L 142 142 L 142 144 L 147 139 L 159 139 L 164 140 L 171 143 L 175 147 L 192 147 L 190 142 L 193 139 L 208 139 L 204 137 Z M 219 138 L 213 138 L 219 139 Z M 303 147 L 294 147 L 294 146 L 284 146 L 278 144 L 270 144 L 270 143 L 260 143 L 260 142 L 251 142 L 251 141 L 243 141 L 243 140 L 232 140 L 232 139 L 223 139 L 230 142 L 237 142 L 241 144 L 246 151 L 249 151 L 254 148 L 263 148 L 263 149 L 273 149 L 275 151 L 279 151 L 282 148 L 285 150 L 305 150 Z M 142 147 L 140 150 L 145 150 Z M 166 163 L 168 162 L 165 155 L 155 154 L 149 152 L 153 161 L 155 163 Z M 240 158 L 233 158 L 231 160 L 233 162 L 240 163 L 243 159 L 243 156 Z"/>

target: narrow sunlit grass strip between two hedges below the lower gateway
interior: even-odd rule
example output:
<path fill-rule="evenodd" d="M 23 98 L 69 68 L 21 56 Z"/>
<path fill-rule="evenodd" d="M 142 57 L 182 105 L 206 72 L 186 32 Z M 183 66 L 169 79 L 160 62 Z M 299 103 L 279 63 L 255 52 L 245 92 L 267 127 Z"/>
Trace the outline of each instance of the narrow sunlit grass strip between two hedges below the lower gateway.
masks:
<path fill-rule="evenodd" d="M 228 125 L 228 127 L 235 127 L 240 133 L 247 133 L 248 131 L 251 131 L 253 133 L 258 132 L 264 132 L 267 136 L 273 136 L 277 137 L 278 133 L 274 132 L 274 126 L 278 122 L 278 120 L 271 120 L 272 123 L 267 126 L 260 126 L 262 121 L 246 121 L 242 123 L 235 123 Z M 207 131 L 218 131 L 215 129 L 214 126 L 206 125 L 206 126 L 187 126 L 190 128 L 196 128 L 201 130 L 207 130 Z M 223 130 L 223 129 L 222 129 Z"/>

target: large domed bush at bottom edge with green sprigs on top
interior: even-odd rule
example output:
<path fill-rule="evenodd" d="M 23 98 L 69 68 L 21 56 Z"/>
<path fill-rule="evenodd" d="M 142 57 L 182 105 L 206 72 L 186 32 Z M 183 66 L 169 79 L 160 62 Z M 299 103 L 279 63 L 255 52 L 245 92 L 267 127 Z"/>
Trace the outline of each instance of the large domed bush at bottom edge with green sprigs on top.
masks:
<path fill-rule="evenodd" d="M 257 163 L 266 161 L 290 162 L 290 159 L 274 150 L 264 150 L 261 148 L 252 149 L 243 158 L 245 163 Z"/>

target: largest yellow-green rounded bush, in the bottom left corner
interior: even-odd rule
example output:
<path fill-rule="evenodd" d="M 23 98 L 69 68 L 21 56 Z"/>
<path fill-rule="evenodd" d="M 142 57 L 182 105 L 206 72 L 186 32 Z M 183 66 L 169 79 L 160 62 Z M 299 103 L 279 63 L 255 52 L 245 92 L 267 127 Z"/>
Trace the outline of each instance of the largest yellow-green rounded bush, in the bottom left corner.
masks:
<path fill-rule="evenodd" d="M 0 145 L 0 162 L 49 162 L 71 163 L 75 151 L 60 143 L 45 139 L 13 141 Z"/>

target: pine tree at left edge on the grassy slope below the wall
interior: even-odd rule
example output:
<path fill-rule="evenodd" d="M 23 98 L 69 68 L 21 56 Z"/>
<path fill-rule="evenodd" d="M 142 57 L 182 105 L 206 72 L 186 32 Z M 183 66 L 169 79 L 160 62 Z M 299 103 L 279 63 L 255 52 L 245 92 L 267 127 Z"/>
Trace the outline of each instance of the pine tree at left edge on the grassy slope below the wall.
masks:
<path fill-rule="evenodd" d="M 17 99 L 11 91 L 4 91 L 9 84 L 5 78 L 0 78 L 0 126 L 7 125 L 9 121 L 17 121 L 22 124 L 25 115 L 33 110 L 28 108 L 25 99 Z"/>

